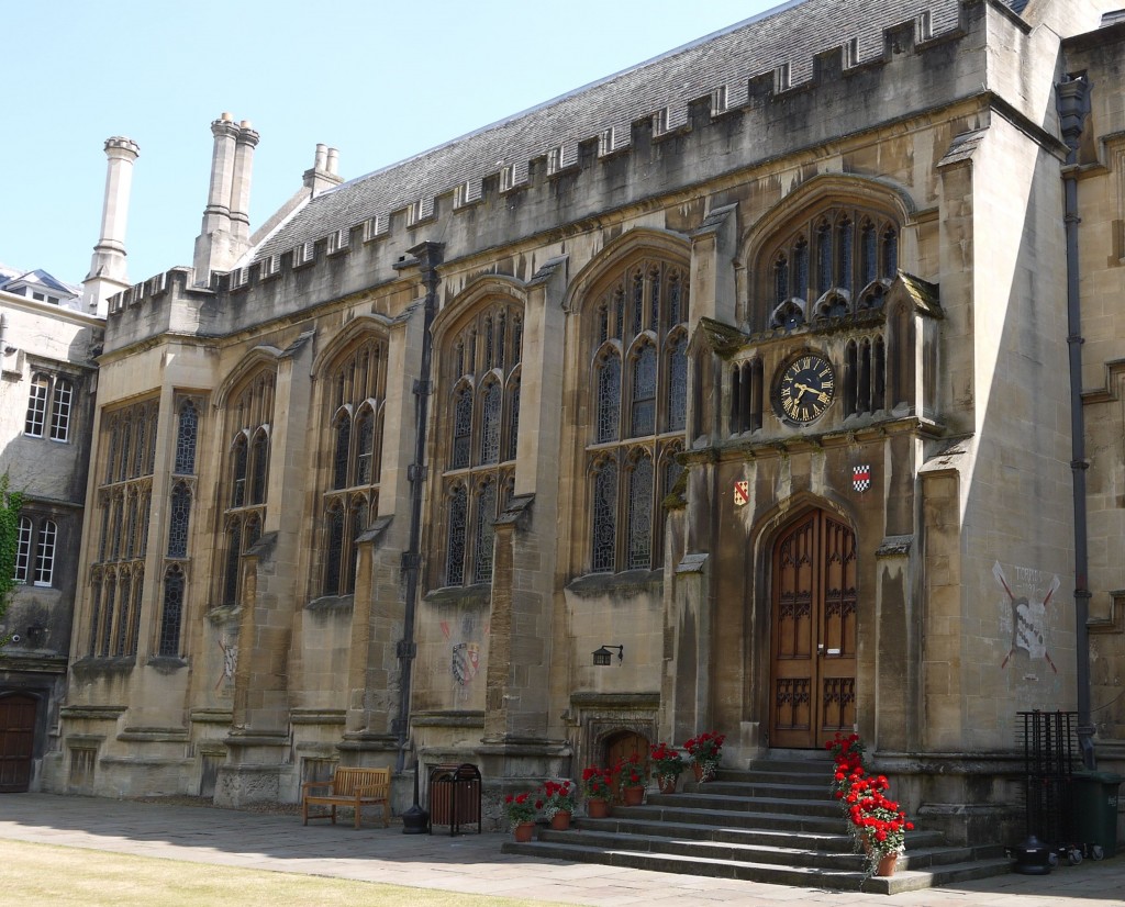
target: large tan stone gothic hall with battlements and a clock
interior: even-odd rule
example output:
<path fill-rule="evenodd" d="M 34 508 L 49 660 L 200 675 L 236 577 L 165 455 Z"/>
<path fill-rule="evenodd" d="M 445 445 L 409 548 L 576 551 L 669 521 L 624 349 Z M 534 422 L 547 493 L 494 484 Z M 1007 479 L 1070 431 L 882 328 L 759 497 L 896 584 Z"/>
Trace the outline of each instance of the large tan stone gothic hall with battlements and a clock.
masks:
<path fill-rule="evenodd" d="M 367 176 L 318 146 L 253 234 L 216 120 L 192 267 L 109 300 L 51 784 L 416 753 L 494 802 L 856 727 L 971 840 L 1018 713 L 1119 764 L 1115 19 L 788 3 Z"/>

